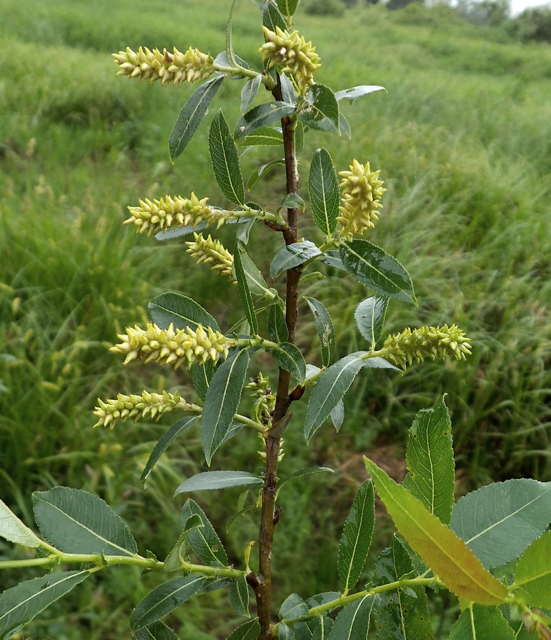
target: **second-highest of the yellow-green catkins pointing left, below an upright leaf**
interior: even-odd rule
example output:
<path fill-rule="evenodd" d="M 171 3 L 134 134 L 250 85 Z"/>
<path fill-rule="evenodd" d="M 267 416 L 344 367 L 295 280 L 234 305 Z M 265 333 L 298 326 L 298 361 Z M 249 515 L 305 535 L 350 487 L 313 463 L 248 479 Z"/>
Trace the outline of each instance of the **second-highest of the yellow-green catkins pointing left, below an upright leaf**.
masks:
<path fill-rule="evenodd" d="M 225 215 L 220 209 L 207 206 L 209 198 L 199 200 L 195 193 L 190 198 L 166 195 L 160 200 L 140 200 L 139 206 L 129 206 L 132 214 L 123 224 L 134 224 L 136 233 L 158 233 L 178 226 L 196 227 L 201 222 L 207 226 L 216 224 L 217 228 L 225 222 Z"/>

